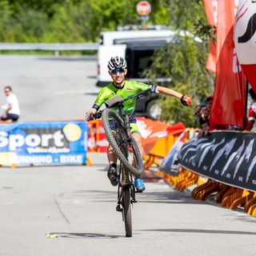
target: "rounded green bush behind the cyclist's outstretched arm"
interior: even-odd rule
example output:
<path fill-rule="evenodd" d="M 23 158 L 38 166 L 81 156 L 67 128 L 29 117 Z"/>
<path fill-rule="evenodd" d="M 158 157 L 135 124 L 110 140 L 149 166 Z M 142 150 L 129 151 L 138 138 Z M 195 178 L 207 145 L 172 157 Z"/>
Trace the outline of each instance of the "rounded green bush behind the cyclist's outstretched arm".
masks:
<path fill-rule="evenodd" d="M 182 107 L 176 98 L 162 98 L 162 121 L 184 122 L 195 126 L 194 106 L 201 104 L 212 92 L 213 78 L 206 70 L 207 47 L 189 36 L 178 37 L 160 50 L 156 50 L 153 63 L 146 76 L 153 84 L 157 77 L 171 78 L 170 88 L 190 95 L 192 107 Z"/>

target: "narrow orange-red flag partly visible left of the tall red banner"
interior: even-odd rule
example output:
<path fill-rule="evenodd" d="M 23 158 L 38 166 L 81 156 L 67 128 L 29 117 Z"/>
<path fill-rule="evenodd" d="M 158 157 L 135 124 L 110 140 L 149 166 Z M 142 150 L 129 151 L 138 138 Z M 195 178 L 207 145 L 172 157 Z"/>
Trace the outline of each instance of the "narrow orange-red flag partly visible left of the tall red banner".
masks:
<path fill-rule="evenodd" d="M 206 18 L 210 26 L 217 26 L 218 19 L 218 0 L 203 0 L 205 6 Z M 206 62 L 206 69 L 216 73 L 216 46 L 210 39 L 210 53 Z"/>

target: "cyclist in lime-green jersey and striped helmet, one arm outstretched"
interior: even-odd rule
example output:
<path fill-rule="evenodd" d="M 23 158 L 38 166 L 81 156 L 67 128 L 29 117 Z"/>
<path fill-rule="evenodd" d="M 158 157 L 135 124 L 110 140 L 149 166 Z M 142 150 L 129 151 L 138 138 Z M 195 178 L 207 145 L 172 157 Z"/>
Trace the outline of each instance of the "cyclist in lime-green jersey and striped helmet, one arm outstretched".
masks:
<path fill-rule="evenodd" d="M 127 73 L 127 65 L 126 60 L 122 57 L 116 56 L 110 58 L 108 62 L 108 70 L 110 77 L 112 78 L 113 82 L 109 85 L 103 87 L 94 102 L 94 106 L 90 109 L 88 113 L 86 113 L 86 121 L 90 122 L 90 120 L 94 119 L 94 114 L 100 109 L 102 104 L 106 102 L 108 99 L 114 97 L 115 95 L 119 95 L 121 98 L 126 98 L 129 95 L 137 94 L 142 90 L 146 90 L 148 88 L 151 89 L 152 93 L 160 93 L 164 95 L 174 96 L 179 98 L 183 105 L 189 106 L 191 104 L 191 98 L 184 96 L 183 94 L 178 93 L 175 90 L 171 90 L 166 87 L 162 86 L 150 86 L 146 85 L 142 82 L 135 82 L 135 81 L 128 81 L 125 79 Z M 130 100 L 124 103 L 124 110 L 126 114 L 129 115 L 130 119 L 130 131 L 131 134 L 134 136 L 134 140 L 138 145 L 138 148 L 143 155 L 143 148 L 142 148 L 142 136 L 138 131 L 138 127 L 136 125 L 136 118 L 135 118 L 135 105 L 136 99 Z M 114 124 L 110 122 L 111 130 L 114 130 Z M 110 179 L 110 182 L 113 186 L 118 185 L 118 177 L 117 177 L 117 157 L 114 154 L 114 150 L 111 146 L 107 149 L 107 158 L 110 164 L 110 167 L 107 171 L 107 177 Z M 136 190 L 142 192 L 145 190 L 144 182 L 142 178 L 135 177 L 134 186 Z"/>

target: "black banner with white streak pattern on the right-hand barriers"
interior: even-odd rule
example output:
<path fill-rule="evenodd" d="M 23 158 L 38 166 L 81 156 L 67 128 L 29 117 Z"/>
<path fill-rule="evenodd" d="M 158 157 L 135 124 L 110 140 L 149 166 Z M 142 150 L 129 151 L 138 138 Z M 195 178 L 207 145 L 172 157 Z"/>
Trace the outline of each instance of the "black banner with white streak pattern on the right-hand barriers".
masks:
<path fill-rule="evenodd" d="M 256 191 L 256 134 L 216 131 L 187 142 L 180 165 L 215 181 Z"/>

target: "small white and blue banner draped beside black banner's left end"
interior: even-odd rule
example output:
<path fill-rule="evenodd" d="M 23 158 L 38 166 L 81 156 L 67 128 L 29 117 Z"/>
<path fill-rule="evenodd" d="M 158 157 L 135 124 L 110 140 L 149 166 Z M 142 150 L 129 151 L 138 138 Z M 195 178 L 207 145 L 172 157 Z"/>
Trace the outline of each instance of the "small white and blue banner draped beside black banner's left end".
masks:
<path fill-rule="evenodd" d="M 179 135 L 178 139 L 174 143 L 174 146 L 171 147 L 169 153 L 163 158 L 161 165 L 159 166 L 159 170 L 166 174 L 170 174 L 173 176 L 178 175 L 179 166 L 177 164 L 178 160 L 178 152 L 181 150 L 182 146 L 186 140 L 186 132 L 184 130 L 182 134 Z"/>

